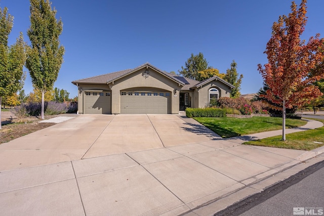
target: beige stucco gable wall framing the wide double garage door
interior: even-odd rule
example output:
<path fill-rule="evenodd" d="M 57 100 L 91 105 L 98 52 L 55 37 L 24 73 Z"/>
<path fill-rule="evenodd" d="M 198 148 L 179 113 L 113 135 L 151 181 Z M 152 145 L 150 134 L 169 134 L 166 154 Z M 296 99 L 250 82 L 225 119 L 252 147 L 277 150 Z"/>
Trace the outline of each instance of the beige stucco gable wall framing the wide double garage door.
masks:
<path fill-rule="evenodd" d="M 144 71 L 146 68 L 142 68 L 138 71 L 135 71 L 125 77 L 122 77 L 114 83 L 109 83 L 109 87 L 111 89 L 111 113 L 119 114 L 120 113 L 120 91 L 127 89 L 141 89 L 149 91 L 151 88 L 164 90 L 166 92 L 170 92 L 171 97 L 171 114 L 179 113 L 179 90 L 181 86 L 169 77 L 160 74 L 159 72 L 148 68 L 149 76 L 144 76 Z M 176 92 L 176 96 L 174 97 L 174 93 Z"/>

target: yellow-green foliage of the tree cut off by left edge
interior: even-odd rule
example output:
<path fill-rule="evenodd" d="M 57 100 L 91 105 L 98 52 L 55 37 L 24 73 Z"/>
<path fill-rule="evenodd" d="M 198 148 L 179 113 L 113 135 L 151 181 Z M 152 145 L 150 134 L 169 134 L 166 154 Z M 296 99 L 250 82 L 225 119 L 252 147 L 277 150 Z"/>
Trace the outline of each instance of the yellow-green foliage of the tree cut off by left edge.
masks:
<path fill-rule="evenodd" d="M 8 47 L 13 20 L 14 17 L 8 14 L 7 8 L 4 10 L 0 8 L 0 104 L 3 97 L 10 97 L 22 89 L 25 80 L 23 66 L 26 61 L 26 44 L 22 33 L 17 38 L 16 44 Z"/>

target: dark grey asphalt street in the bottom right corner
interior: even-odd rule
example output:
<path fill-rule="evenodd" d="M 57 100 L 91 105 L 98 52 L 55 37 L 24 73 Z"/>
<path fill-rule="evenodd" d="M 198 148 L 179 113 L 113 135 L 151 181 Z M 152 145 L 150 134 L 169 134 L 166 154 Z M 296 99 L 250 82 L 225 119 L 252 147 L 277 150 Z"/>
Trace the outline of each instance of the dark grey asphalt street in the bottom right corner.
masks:
<path fill-rule="evenodd" d="M 323 215 L 323 180 L 324 160 L 214 215 Z"/>

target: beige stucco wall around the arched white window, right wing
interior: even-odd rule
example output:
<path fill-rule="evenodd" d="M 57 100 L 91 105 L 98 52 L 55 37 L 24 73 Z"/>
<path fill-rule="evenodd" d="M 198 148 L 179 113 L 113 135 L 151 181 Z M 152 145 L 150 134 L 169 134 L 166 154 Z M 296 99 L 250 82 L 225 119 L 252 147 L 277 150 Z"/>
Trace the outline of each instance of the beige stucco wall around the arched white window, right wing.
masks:
<path fill-rule="evenodd" d="M 219 91 L 219 97 L 229 97 L 231 89 L 228 85 L 224 84 L 219 80 L 213 80 L 200 88 L 195 89 L 194 92 L 194 107 L 193 108 L 204 108 L 209 103 L 209 90 L 216 88 Z"/>

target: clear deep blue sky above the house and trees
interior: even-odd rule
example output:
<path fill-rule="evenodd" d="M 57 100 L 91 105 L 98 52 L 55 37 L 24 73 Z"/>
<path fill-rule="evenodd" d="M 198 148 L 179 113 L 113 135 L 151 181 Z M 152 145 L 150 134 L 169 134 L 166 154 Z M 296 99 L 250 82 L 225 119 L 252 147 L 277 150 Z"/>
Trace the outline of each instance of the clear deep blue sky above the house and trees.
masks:
<path fill-rule="evenodd" d="M 199 52 L 209 65 L 225 73 L 232 60 L 244 75 L 241 93 L 262 87 L 257 64 L 267 63 L 266 43 L 273 22 L 291 12 L 290 0 L 52 0 L 62 18 L 64 63 L 54 87 L 77 95 L 71 81 L 135 68 L 145 62 L 167 72 L 178 71 L 191 53 Z M 299 6 L 301 0 L 295 1 Z M 28 44 L 28 0 L 0 0 L 14 16 L 9 45 L 23 32 Z M 324 37 L 323 0 L 307 3 L 302 35 Z M 24 90 L 32 91 L 27 72 Z"/>

